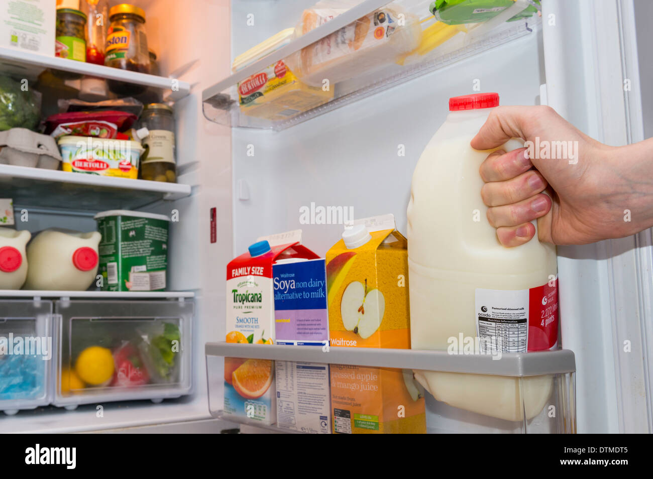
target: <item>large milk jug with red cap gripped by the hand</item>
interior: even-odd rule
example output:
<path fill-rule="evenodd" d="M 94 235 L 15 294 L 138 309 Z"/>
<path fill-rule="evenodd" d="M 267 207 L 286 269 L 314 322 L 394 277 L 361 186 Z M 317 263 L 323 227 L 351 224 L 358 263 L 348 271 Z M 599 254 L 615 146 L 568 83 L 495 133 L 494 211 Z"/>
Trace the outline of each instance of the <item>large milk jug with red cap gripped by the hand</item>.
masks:
<path fill-rule="evenodd" d="M 407 209 L 413 349 L 466 354 L 460 343 L 477 338 L 480 352 L 557 347 L 555 247 L 537 235 L 503 247 L 481 199 L 479 166 L 490 151 L 476 151 L 470 141 L 498 100 L 496 93 L 450 99 L 447 120 L 415 167 Z M 510 140 L 502 148 L 522 146 Z M 521 420 L 522 400 L 532 418 L 552 390 L 550 376 L 525 378 L 524 397 L 513 377 L 431 371 L 415 371 L 415 377 L 436 399 L 507 420 Z"/>

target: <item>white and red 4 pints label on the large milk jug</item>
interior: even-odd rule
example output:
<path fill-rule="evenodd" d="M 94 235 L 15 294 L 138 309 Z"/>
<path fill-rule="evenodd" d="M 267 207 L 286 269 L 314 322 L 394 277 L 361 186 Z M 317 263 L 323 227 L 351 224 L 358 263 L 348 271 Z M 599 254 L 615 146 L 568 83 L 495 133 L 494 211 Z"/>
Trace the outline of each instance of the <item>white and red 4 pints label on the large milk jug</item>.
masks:
<path fill-rule="evenodd" d="M 558 337 L 558 279 L 523 290 L 475 290 L 482 352 L 552 349 Z"/>

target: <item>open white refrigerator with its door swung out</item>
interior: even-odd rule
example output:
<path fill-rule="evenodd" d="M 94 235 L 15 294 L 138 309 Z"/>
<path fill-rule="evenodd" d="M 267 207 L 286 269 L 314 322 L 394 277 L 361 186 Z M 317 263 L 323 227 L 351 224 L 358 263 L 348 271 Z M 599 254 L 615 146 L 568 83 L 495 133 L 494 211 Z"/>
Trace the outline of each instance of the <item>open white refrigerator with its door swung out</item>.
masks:
<path fill-rule="evenodd" d="M 93 216 L 106 209 L 176 215 L 178 221 L 169 230 L 167 279 L 167 290 L 175 294 L 114 298 L 93 292 L 85 298 L 65 292 L 3 291 L 0 296 L 42 303 L 50 298 L 50 303 L 40 304 L 38 314 L 52 328 L 55 341 L 66 337 L 65 319 L 76 314 L 182 318 L 179 324 L 183 322 L 189 338 L 180 366 L 187 368 L 180 380 L 182 392 L 173 388 L 156 397 L 72 402 L 49 397 L 42 401 L 48 404 L 34 405 L 36 409 L 16 407 L 16 414 L 0 417 L 3 432 L 277 432 L 274 427 L 214 417 L 221 409 L 224 382 L 221 358 L 207 356 L 206 345 L 223 342 L 227 333 L 227 264 L 257 238 L 296 229 L 302 230 L 302 244 L 324 257 L 340 238 L 343 224 L 304 221 L 301 212 L 307 208 L 342 208 L 353 218 L 392 213 L 398 231 L 406 232 L 413 169 L 445 121 L 450 97 L 497 92 L 502 105 L 546 104 L 611 146 L 653 134 L 653 97 L 645 87 L 653 80 L 647 50 L 653 40 L 647 28 L 653 8 L 645 0 L 542 0 L 541 5 L 519 0 L 517 8 L 509 7 L 511 13 L 527 7 L 536 11 L 513 22 L 505 22 L 511 16 L 503 12 L 495 20 L 462 25 L 466 29 L 458 28 L 443 43 L 407 57 L 403 64 L 353 63 L 342 72 L 342 82 L 329 85 L 327 101 L 276 121 L 243 114 L 237 84 L 387 7 L 387 0 L 330 2 L 341 7 L 332 20 L 236 72 L 236 57 L 295 27 L 315 0 L 133 3 L 147 13 L 148 42 L 158 52 L 159 77 L 127 78 L 108 67 L 17 55 L 8 48 L 0 48 L 0 69 L 59 67 L 161 89 L 174 108 L 176 185 L 141 186 L 148 182 L 138 180 L 138 188 L 146 191 L 143 199 L 125 181 L 75 180 L 62 187 L 68 180 L 61 172 L 39 170 L 36 175 L 0 168 L 3 187 L 19 197 L 14 198 L 16 211 L 27 209 L 30 214 L 29 222 L 18 229 L 94 231 Z M 424 29 L 434 22 L 429 1 L 393 4 L 424 21 Z M 32 188 L 32 194 L 25 193 Z M 125 208 L 119 208 L 121 204 Z M 575 422 L 567 432 L 653 432 L 651 231 L 559 246 L 557 255 L 558 343 L 573 352 L 575 365 L 572 381 L 565 386 Z M 125 301 L 141 301 L 151 311 L 141 313 L 138 305 L 131 308 Z M 112 308 L 117 312 L 111 313 Z M 293 358 L 287 354 L 286 359 Z M 389 362 L 379 365 L 392 364 L 385 356 L 379 360 Z M 207 364 L 215 369 L 207 371 Z M 50 380 L 56 382 L 56 375 Z M 432 433 L 505 432 L 482 417 L 451 412 L 428 394 L 426 425 Z"/>

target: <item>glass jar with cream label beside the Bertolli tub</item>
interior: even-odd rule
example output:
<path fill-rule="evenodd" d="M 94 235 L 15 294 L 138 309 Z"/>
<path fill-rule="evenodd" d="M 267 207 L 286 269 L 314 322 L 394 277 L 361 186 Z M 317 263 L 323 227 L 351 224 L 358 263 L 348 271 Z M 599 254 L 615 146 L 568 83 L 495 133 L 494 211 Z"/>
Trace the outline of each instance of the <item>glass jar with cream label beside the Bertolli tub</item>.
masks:
<path fill-rule="evenodd" d="M 140 178 L 154 181 L 177 181 L 174 151 L 174 116 L 163 103 L 150 103 L 140 116 L 140 127 L 148 129 L 142 144 L 146 148 L 140 161 Z"/>

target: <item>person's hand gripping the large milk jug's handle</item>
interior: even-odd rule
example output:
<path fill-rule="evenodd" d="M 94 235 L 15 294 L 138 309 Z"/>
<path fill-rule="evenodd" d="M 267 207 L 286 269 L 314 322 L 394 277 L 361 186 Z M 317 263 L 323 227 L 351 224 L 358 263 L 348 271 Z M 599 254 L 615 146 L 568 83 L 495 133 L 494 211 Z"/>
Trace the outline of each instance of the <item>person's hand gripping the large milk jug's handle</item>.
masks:
<path fill-rule="evenodd" d="M 494 151 L 479 170 L 488 221 L 502 245 L 530 241 L 534 219 L 539 240 L 558 245 L 621 238 L 653 225 L 653 140 L 610 147 L 549 106 L 499 106 L 471 147 L 492 149 L 510 138 L 531 147 Z M 537 148 L 547 144 L 548 154 Z M 626 221 L 626 209 L 637 218 Z"/>

